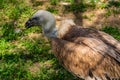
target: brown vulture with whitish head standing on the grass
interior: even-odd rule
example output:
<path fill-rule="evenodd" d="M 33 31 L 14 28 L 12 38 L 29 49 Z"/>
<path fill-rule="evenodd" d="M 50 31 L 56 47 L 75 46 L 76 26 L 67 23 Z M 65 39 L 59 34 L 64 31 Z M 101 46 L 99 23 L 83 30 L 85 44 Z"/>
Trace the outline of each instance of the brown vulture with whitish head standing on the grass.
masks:
<path fill-rule="evenodd" d="M 120 80 L 120 42 L 93 28 L 77 26 L 64 19 L 56 26 L 54 15 L 38 10 L 25 27 L 39 26 L 51 40 L 54 55 L 71 74 L 85 80 Z"/>

